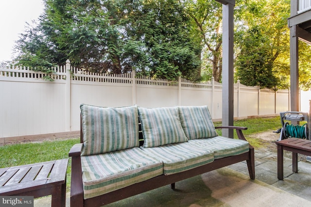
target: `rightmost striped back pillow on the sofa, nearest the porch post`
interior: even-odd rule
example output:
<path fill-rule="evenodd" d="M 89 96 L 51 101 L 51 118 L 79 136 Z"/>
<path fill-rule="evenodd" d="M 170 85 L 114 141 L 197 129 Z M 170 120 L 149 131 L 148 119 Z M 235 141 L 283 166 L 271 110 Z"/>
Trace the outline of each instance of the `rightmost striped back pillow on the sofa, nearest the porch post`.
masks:
<path fill-rule="evenodd" d="M 178 109 L 181 125 L 189 140 L 217 136 L 207 106 L 179 106 Z"/>

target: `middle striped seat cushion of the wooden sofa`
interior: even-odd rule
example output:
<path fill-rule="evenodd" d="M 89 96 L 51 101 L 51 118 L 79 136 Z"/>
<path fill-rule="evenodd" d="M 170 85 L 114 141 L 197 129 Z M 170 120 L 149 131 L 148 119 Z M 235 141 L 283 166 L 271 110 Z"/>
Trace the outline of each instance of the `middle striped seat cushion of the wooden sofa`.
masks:
<path fill-rule="evenodd" d="M 214 161 L 212 151 L 191 146 L 188 142 L 140 148 L 163 161 L 164 175 L 180 173 Z"/>

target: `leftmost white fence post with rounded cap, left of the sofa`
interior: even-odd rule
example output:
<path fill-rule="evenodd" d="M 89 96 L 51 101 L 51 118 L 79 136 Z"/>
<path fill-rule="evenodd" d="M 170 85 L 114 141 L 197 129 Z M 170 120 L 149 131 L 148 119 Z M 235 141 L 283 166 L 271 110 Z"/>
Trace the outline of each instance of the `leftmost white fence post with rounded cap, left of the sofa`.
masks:
<path fill-rule="evenodd" d="M 70 79 L 71 79 L 70 61 L 66 61 L 66 103 L 65 103 L 65 130 L 70 131 Z"/>

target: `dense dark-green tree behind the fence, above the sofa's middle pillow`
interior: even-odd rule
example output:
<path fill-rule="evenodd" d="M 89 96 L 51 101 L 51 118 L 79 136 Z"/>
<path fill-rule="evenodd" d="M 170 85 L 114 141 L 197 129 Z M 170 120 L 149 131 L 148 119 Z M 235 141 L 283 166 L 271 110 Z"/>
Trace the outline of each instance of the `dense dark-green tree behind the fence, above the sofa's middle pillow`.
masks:
<path fill-rule="evenodd" d="M 190 19 L 176 0 L 145 1 L 131 37 L 143 43 L 147 70 L 152 77 L 198 80 L 201 46 L 190 37 Z M 141 67 L 142 68 L 142 67 Z"/>

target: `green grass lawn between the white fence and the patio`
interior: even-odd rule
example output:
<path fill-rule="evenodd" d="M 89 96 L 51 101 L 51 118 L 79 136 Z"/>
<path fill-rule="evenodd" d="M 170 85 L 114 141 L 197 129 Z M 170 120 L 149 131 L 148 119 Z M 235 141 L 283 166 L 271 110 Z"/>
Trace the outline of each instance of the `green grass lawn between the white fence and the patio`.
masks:
<path fill-rule="evenodd" d="M 221 126 L 221 122 L 215 122 L 215 126 Z M 281 127 L 279 116 L 272 118 L 254 118 L 234 121 L 235 126 L 247 127 L 243 130 L 245 138 L 255 147 L 262 147 L 264 142 L 251 138 L 248 135 L 276 130 Z M 217 131 L 221 135 L 221 130 Z M 236 134 L 235 134 L 236 136 Z M 46 141 L 40 143 L 17 143 L 0 146 L 0 168 L 24 165 L 36 162 L 50 161 L 54 159 L 69 158 L 70 148 L 79 143 L 79 138 Z M 69 159 L 67 170 L 67 190 L 70 189 L 71 160 Z"/>

